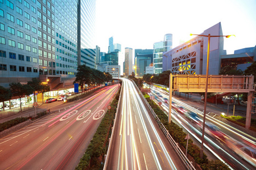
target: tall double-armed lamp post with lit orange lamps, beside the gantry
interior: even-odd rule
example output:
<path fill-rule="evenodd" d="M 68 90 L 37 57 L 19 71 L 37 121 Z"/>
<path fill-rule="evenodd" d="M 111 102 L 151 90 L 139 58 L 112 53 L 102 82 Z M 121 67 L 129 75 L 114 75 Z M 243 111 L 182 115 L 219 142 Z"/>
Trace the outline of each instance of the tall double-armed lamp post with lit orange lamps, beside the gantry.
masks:
<path fill-rule="evenodd" d="M 203 130 L 202 130 L 202 143 L 201 143 L 201 150 L 200 150 L 200 158 L 203 159 L 204 154 L 204 129 L 205 129 L 205 117 L 206 117 L 206 108 L 207 108 L 207 91 L 208 91 L 208 73 L 209 73 L 209 56 L 210 56 L 210 37 L 226 37 L 229 38 L 232 35 L 227 36 L 211 36 L 210 33 L 208 35 L 197 35 L 197 34 L 190 34 L 202 37 L 208 37 L 208 48 L 207 48 L 207 75 L 206 75 L 206 82 L 205 82 L 205 95 L 204 95 L 204 120 L 203 120 Z M 234 36 L 234 35 L 233 35 Z"/>

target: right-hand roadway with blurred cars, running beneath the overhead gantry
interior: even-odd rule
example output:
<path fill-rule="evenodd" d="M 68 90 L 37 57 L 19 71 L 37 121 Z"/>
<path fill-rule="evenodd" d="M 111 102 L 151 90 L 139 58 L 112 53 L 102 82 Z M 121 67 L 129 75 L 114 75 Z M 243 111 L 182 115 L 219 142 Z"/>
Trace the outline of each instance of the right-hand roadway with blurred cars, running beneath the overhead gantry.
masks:
<path fill-rule="evenodd" d="M 160 96 L 167 97 L 168 94 L 162 90 L 156 90 L 160 93 Z M 160 99 L 161 100 L 161 99 Z M 175 97 L 172 98 L 172 101 L 174 101 L 177 105 L 184 107 L 187 111 L 192 111 L 197 113 L 197 115 L 201 118 L 203 118 L 203 112 L 198 111 L 197 109 L 191 107 L 187 102 L 184 103 L 183 101 L 180 101 L 176 99 Z M 168 104 L 163 102 L 163 108 L 166 109 L 166 112 L 168 112 Z M 166 105 L 166 106 L 164 106 Z M 216 110 L 212 110 L 212 112 L 218 112 Z M 188 118 L 184 114 L 180 114 L 175 112 L 174 109 L 172 109 L 172 120 L 176 120 L 177 124 L 179 124 L 183 129 L 185 129 L 189 134 L 192 135 L 199 143 L 201 143 L 201 133 L 202 130 L 199 125 L 195 124 L 195 122 L 192 122 L 191 120 L 188 120 Z M 224 124 L 221 121 L 218 121 L 214 119 L 213 117 L 207 116 L 207 122 L 210 122 L 214 125 L 216 125 L 222 133 L 228 138 L 235 139 L 236 141 L 245 141 L 243 139 L 246 139 L 246 142 L 250 141 L 251 145 L 255 146 L 255 137 L 251 137 L 250 135 L 247 135 L 243 133 L 242 131 L 235 129 L 229 125 Z M 242 139 L 243 138 L 243 139 Z M 194 140 L 195 141 L 195 140 Z M 246 162 L 246 160 L 241 159 L 240 156 L 238 156 L 233 150 L 232 147 L 229 146 L 230 143 L 228 139 L 217 139 L 216 137 L 213 137 L 210 135 L 210 133 L 206 131 L 205 134 L 205 147 L 210 150 L 213 155 L 216 155 L 216 158 L 223 160 L 225 163 L 229 164 L 230 167 L 234 169 L 254 169 L 255 167 L 251 165 L 250 163 Z"/>

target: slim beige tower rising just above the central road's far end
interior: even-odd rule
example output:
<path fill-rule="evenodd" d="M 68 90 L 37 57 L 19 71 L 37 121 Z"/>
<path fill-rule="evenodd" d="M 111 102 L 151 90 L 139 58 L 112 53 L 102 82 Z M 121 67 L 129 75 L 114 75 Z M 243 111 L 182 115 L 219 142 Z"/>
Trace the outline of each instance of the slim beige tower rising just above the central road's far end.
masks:
<path fill-rule="evenodd" d="M 125 62 L 123 64 L 123 73 L 128 76 L 133 72 L 133 49 L 125 48 Z"/>

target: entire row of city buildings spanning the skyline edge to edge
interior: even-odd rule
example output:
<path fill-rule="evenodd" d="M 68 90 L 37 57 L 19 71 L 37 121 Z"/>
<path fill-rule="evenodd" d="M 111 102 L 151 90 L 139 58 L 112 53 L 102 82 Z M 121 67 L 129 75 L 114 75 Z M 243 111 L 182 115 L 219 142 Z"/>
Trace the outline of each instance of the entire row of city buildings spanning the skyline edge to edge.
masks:
<path fill-rule="evenodd" d="M 94 42 L 96 0 L 0 1 L 0 86 L 27 83 L 39 78 L 51 87 L 51 96 L 73 88 L 79 65 L 109 72 L 113 77 L 160 74 L 205 74 L 207 37 L 196 36 L 172 47 L 172 34 L 152 44 L 152 49 L 125 48 L 122 68 L 121 44 L 109 38 L 108 52 Z M 221 23 L 201 35 L 222 35 Z M 134 56 L 133 56 L 134 54 Z M 226 55 L 224 38 L 210 41 L 209 74 L 230 65 L 245 70 L 255 61 L 256 47 Z M 117 74 L 118 71 L 118 74 Z"/>

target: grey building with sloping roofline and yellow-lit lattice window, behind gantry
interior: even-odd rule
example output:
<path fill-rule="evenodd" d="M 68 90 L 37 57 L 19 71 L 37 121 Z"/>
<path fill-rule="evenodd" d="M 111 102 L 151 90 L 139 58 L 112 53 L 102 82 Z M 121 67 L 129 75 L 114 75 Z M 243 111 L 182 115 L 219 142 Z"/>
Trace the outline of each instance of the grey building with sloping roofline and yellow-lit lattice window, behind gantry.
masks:
<path fill-rule="evenodd" d="M 202 35 L 222 36 L 221 23 L 206 29 Z M 217 75 L 221 65 L 223 37 L 210 39 L 209 74 Z M 163 54 L 163 71 L 171 70 L 173 74 L 206 74 L 208 37 L 195 36 L 193 39 L 176 46 Z"/>

